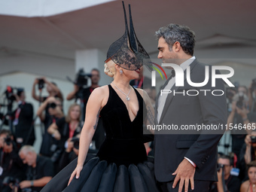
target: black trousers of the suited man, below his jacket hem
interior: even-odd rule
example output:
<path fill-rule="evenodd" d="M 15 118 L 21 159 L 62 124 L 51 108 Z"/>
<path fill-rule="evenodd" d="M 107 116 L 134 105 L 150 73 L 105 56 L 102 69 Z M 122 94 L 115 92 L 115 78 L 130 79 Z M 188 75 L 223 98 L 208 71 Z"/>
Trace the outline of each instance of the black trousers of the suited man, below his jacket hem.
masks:
<path fill-rule="evenodd" d="M 176 187 L 172 188 L 173 181 L 169 182 L 157 182 L 157 185 L 162 192 L 178 192 L 178 184 L 176 184 Z M 210 181 L 201 181 L 201 180 L 194 180 L 194 190 L 191 190 L 190 184 L 188 186 L 188 192 L 208 192 L 210 186 Z M 182 189 L 182 192 L 184 192 L 184 186 Z"/>

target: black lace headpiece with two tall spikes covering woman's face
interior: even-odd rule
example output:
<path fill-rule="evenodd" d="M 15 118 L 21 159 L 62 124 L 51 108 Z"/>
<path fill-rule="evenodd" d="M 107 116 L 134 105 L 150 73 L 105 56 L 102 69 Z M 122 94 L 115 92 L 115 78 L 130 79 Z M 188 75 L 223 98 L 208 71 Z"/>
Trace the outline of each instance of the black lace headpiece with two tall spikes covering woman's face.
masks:
<path fill-rule="evenodd" d="M 130 33 L 128 30 L 124 4 L 123 13 L 125 21 L 125 32 L 122 37 L 120 37 L 117 41 L 114 41 L 114 43 L 112 43 L 108 48 L 107 59 L 105 61 L 112 59 L 114 63 L 123 69 L 136 70 L 142 67 L 143 59 L 149 59 L 149 56 L 145 49 L 142 47 L 142 44 L 140 44 L 134 31 L 130 5 Z"/>

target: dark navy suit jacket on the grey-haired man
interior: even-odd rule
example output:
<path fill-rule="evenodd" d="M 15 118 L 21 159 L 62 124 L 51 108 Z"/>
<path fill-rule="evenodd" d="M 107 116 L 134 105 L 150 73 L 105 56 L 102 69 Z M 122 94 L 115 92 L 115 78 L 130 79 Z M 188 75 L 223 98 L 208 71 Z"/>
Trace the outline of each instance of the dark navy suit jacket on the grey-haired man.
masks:
<path fill-rule="evenodd" d="M 209 66 L 211 69 L 211 66 Z M 210 70 L 210 74 L 211 74 Z M 209 83 L 204 87 L 191 87 L 187 84 L 186 71 L 184 72 L 184 87 L 175 87 L 171 90 L 182 92 L 183 90 L 224 90 L 224 81 L 216 80 L 216 87 L 212 87 L 212 75 L 209 75 Z M 203 82 L 205 79 L 205 65 L 194 60 L 190 64 L 190 79 L 194 83 Z M 199 91 L 198 96 L 184 96 L 169 94 L 160 117 L 159 124 L 181 125 L 205 124 L 218 125 L 227 123 L 226 96 L 212 96 L 211 92 Z M 195 93 L 190 93 L 195 94 Z M 218 93 L 219 94 L 219 93 Z M 157 99 L 158 100 L 158 99 Z M 224 130 L 218 134 L 204 134 L 205 131 L 188 134 L 172 134 L 156 132 L 155 151 L 155 175 L 157 181 L 172 181 L 175 176 L 173 172 L 178 168 L 184 157 L 192 160 L 196 165 L 194 179 L 216 181 L 217 180 L 217 145 Z M 177 133 L 177 132 L 176 132 Z M 183 131 L 183 133 L 185 133 Z M 196 133 L 196 134 L 195 134 Z M 217 132 L 213 132 L 217 133 Z"/>

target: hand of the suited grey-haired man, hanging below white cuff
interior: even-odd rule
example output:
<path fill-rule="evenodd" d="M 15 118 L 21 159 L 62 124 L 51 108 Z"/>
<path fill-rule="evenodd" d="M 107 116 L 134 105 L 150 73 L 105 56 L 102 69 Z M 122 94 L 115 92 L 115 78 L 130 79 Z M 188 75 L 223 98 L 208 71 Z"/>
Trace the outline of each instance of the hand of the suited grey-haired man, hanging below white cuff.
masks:
<path fill-rule="evenodd" d="M 189 163 L 188 160 L 182 160 L 175 172 L 172 173 L 172 175 L 176 175 L 175 180 L 173 181 L 172 188 L 175 188 L 178 181 L 180 181 L 178 186 L 178 192 L 182 191 L 183 185 L 185 185 L 184 191 L 187 192 L 188 184 L 190 181 L 191 189 L 194 190 L 195 171 L 196 168 L 194 168 L 194 166 L 192 166 L 192 164 Z"/>

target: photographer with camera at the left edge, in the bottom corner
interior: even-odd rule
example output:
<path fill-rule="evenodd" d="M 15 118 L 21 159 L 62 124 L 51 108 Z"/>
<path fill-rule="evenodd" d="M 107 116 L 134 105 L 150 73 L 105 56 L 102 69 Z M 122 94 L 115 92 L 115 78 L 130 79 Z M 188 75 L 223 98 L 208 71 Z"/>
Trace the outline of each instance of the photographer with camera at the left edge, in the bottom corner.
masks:
<path fill-rule="evenodd" d="M 11 132 L 2 130 L 0 132 L 0 191 L 11 191 L 8 178 L 20 180 L 24 176 L 24 166 L 11 139 Z"/>

